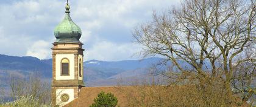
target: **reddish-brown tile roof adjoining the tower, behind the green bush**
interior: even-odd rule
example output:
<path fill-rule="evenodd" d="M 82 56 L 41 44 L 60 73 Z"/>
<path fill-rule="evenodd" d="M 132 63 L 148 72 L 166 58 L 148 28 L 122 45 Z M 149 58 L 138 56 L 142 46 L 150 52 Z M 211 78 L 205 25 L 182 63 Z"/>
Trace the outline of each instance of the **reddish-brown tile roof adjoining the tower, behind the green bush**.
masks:
<path fill-rule="evenodd" d="M 94 98 L 98 97 L 99 92 L 112 92 L 115 97 L 118 99 L 118 106 L 129 106 L 127 100 L 132 99 L 141 99 L 142 90 L 148 91 L 154 88 L 154 91 L 157 89 L 165 88 L 165 92 L 175 90 L 175 89 L 187 89 L 183 88 L 187 86 L 115 86 L 115 87 L 84 87 L 79 93 L 79 97 L 72 102 L 65 105 L 65 107 L 89 107 L 94 101 Z M 154 92 L 153 91 L 153 92 Z M 163 92 L 163 94 L 166 94 Z M 146 98 L 151 100 L 151 98 Z"/>

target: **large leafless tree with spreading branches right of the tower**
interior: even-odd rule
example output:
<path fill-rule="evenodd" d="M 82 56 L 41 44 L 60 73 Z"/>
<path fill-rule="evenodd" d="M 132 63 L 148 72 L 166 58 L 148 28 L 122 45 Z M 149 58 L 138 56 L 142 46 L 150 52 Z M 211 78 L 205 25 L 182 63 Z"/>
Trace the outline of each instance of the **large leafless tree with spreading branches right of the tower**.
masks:
<path fill-rule="evenodd" d="M 136 28 L 133 36 L 144 45 L 144 57 L 161 55 L 171 60 L 175 69 L 169 77 L 194 79 L 202 91 L 223 83 L 221 91 L 232 96 L 233 79 L 244 74 L 238 63 L 251 61 L 255 66 L 255 57 L 239 57 L 246 48 L 255 47 L 255 9 L 254 0 L 185 0 L 180 8 L 154 13 L 153 21 Z M 255 79 L 255 68 L 250 69 L 252 75 L 244 77 L 248 83 Z M 250 89 L 240 86 L 235 88 Z"/>

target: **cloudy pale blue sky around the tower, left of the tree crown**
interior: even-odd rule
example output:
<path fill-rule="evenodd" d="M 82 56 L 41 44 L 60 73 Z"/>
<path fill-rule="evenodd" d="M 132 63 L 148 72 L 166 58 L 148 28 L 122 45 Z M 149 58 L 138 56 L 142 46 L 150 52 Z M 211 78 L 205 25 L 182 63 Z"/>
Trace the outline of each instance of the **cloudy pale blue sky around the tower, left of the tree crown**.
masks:
<path fill-rule="evenodd" d="M 54 28 L 65 0 L 0 0 L 0 54 L 51 58 Z M 85 60 L 140 59 L 133 28 L 180 0 L 69 0 L 71 18 L 82 29 Z"/>

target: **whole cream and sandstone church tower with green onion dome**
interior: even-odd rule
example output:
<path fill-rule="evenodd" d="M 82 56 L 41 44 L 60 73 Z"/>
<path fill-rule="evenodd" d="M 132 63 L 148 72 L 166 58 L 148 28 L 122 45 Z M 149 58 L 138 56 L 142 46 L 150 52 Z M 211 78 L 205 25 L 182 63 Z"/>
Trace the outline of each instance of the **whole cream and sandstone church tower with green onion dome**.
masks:
<path fill-rule="evenodd" d="M 84 49 L 79 41 L 82 31 L 74 24 L 66 3 L 66 15 L 54 30 L 52 48 L 52 103 L 63 106 L 79 96 L 84 86 Z"/>

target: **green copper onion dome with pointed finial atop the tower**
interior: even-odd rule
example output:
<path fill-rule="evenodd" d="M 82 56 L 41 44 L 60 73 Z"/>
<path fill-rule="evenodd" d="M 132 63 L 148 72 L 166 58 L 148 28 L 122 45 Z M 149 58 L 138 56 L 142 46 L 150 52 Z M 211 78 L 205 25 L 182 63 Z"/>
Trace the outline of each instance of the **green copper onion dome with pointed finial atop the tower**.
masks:
<path fill-rule="evenodd" d="M 66 15 L 63 21 L 54 29 L 55 42 L 80 42 L 82 31 L 70 18 L 69 5 L 66 4 Z"/>

